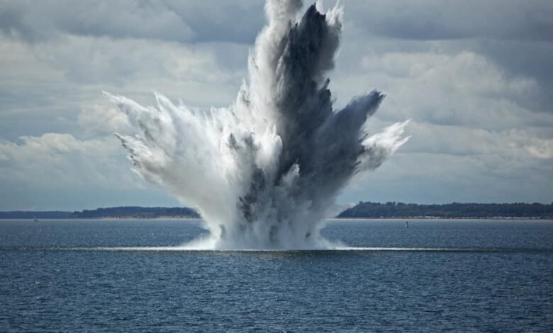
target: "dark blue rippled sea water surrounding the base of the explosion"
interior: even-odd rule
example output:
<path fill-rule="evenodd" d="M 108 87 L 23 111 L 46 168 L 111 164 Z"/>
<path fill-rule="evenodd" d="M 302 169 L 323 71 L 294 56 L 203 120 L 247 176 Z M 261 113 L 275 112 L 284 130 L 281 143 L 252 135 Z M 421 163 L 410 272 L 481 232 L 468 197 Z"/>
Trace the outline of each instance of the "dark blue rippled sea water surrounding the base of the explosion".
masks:
<path fill-rule="evenodd" d="M 202 232 L 196 220 L 0 220 L 0 332 L 553 329 L 553 221 L 340 220 L 323 230 L 384 250 L 99 249 Z"/>

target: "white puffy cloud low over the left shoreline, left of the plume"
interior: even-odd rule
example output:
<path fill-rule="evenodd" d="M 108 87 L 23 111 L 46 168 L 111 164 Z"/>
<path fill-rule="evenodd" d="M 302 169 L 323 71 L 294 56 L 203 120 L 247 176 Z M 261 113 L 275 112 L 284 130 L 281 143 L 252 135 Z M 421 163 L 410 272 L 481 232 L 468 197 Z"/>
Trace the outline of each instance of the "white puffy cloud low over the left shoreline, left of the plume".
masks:
<path fill-rule="evenodd" d="M 0 141 L 0 181 L 29 187 L 139 188 L 126 172 L 124 153 L 112 135 L 79 140 L 65 133 Z"/>

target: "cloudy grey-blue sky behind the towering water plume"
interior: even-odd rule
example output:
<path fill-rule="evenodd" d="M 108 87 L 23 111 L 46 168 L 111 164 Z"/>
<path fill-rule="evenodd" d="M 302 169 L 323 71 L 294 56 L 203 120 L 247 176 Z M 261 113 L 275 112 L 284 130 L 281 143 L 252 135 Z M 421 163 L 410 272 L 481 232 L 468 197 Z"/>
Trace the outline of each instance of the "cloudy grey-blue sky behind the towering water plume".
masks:
<path fill-rule="evenodd" d="M 411 119 L 411 138 L 340 204 L 553 202 L 553 1 L 341 4 L 335 105 L 383 91 L 369 129 Z M 263 6 L 0 0 L 0 210 L 181 205 L 131 171 L 102 91 L 230 105 Z"/>

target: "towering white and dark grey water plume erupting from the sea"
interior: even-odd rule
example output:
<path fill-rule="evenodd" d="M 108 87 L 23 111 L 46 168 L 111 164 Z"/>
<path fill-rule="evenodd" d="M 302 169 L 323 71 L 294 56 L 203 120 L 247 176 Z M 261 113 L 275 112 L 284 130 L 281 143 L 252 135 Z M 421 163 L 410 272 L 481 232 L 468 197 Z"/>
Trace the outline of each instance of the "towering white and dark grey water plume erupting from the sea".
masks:
<path fill-rule="evenodd" d="M 134 170 L 201 214 L 206 249 L 318 249 L 323 218 L 340 190 L 376 169 L 408 137 L 407 122 L 369 135 L 364 123 L 384 96 L 357 96 L 333 111 L 333 68 L 342 8 L 321 13 L 301 0 L 268 0 L 267 26 L 249 79 L 228 108 L 202 112 L 156 94 L 156 107 L 106 94 L 140 128 L 116 133 Z"/>

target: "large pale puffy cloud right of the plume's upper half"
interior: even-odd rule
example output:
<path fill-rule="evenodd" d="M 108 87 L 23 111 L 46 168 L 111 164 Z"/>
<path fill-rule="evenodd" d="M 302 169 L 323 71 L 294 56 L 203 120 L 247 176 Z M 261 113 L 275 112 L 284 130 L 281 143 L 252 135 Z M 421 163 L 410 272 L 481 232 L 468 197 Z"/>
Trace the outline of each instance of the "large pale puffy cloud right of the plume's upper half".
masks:
<path fill-rule="evenodd" d="M 534 79 L 509 77 L 474 52 L 391 52 L 363 57 L 362 66 L 359 80 L 384 85 L 393 112 L 415 120 L 495 129 L 553 121 L 522 105 L 537 88 Z"/>

